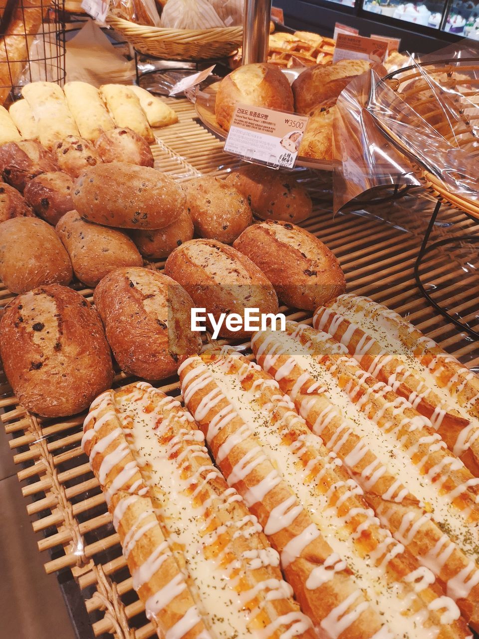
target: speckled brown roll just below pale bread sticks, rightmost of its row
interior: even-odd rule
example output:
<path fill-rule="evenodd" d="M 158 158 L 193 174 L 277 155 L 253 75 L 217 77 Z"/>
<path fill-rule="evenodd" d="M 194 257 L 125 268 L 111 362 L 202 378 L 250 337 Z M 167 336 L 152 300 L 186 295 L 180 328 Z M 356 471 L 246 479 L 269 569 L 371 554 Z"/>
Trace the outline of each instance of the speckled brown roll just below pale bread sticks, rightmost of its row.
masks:
<path fill-rule="evenodd" d="M 103 162 L 128 162 L 153 167 L 155 158 L 149 144 L 131 128 L 114 128 L 105 131 L 95 142 Z"/>

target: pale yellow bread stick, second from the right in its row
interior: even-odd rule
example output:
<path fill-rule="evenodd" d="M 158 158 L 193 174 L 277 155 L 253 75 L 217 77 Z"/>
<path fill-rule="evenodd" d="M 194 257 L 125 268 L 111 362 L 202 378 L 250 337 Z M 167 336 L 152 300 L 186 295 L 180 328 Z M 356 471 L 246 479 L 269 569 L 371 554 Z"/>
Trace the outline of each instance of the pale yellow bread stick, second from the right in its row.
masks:
<path fill-rule="evenodd" d="M 155 142 L 155 135 L 141 108 L 140 100 L 130 86 L 103 84 L 100 86 L 100 95 L 117 127 L 131 128 L 146 141 Z"/>

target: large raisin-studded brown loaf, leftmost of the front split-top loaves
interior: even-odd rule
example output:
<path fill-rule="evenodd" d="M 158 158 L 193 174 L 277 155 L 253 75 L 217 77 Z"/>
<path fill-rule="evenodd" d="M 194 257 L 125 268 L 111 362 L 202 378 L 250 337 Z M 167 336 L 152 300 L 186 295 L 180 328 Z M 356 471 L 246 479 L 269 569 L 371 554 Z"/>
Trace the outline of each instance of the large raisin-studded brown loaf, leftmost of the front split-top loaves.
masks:
<path fill-rule="evenodd" d="M 44 417 L 85 410 L 113 381 L 98 314 L 79 293 L 57 284 L 19 295 L 6 306 L 0 353 L 20 404 Z"/>

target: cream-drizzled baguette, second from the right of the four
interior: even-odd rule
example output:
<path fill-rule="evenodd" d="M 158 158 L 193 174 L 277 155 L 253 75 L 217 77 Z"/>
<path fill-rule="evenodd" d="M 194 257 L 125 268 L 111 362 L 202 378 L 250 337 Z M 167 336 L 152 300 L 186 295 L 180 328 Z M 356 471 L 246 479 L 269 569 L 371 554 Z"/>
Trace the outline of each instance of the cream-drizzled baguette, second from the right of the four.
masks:
<path fill-rule="evenodd" d="M 255 334 L 252 348 L 310 429 L 342 459 L 383 524 L 445 583 L 477 627 L 477 479 L 406 400 L 370 390 L 377 381 L 326 334 L 287 322 L 285 332 Z M 367 406 L 371 393 L 374 406 Z"/>

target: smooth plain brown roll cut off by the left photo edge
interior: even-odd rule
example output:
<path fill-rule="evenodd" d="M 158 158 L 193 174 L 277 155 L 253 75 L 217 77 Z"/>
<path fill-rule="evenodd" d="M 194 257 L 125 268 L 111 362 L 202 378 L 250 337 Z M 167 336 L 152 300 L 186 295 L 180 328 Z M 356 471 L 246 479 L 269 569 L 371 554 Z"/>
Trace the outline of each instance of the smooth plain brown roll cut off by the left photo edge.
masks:
<path fill-rule="evenodd" d="M 72 263 L 47 222 L 15 217 L 0 224 L 0 278 L 13 293 L 42 284 L 68 284 Z"/>

